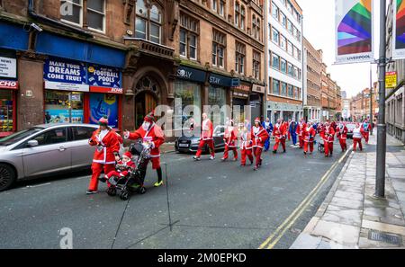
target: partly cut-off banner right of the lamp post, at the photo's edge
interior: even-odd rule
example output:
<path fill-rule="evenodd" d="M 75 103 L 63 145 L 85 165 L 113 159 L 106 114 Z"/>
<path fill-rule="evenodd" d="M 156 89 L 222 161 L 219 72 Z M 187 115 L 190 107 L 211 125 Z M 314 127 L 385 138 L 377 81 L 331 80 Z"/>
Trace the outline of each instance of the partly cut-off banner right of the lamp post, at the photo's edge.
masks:
<path fill-rule="evenodd" d="M 395 38 L 392 38 L 394 48 L 392 58 L 403 59 L 405 58 L 405 1 L 396 0 L 396 4 L 393 5 L 392 34 Z"/>

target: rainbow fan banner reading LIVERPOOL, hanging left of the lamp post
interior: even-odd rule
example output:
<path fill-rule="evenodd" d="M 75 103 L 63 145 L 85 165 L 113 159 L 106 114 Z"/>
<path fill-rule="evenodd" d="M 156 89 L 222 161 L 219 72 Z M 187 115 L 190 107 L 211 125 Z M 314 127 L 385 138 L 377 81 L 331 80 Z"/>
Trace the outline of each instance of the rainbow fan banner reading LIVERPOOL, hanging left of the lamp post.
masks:
<path fill-rule="evenodd" d="M 374 61 L 373 0 L 336 0 L 336 63 Z"/>

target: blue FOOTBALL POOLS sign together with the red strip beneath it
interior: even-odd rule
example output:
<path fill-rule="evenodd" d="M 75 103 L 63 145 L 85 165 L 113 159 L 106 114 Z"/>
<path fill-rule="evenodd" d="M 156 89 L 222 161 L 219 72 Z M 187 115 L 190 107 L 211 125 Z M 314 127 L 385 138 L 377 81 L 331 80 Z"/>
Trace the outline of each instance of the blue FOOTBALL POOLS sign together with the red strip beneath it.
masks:
<path fill-rule="evenodd" d="M 121 72 L 114 67 L 89 65 L 87 67 L 87 84 L 94 93 L 123 93 Z"/>

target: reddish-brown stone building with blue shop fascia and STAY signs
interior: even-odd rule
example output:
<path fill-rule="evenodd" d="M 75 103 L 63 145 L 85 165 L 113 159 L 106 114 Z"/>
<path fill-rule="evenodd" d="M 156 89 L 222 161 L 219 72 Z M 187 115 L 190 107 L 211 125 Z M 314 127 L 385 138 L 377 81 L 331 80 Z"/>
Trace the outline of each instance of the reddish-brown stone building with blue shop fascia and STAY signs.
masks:
<path fill-rule="evenodd" d="M 175 115 L 163 125 L 170 136 L 193 116 L 187 105 L 252 106 L 253 116 L 262 115 L 263 4 L 0 1 L 7 37 L 0 60 L 9 69 L 0 77 L 0 136 L 41 123 L 97 123 L 103 115 L 114 129 L 136 129 L 149 111 Z M 227 115 L 219 114 L 220 123 Z"/>

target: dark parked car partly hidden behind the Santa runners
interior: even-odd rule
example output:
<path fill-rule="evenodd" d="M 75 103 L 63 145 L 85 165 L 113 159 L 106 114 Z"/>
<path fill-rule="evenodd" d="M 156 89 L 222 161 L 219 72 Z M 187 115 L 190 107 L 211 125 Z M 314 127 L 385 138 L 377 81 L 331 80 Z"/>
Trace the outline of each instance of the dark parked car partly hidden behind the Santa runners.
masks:
<path fill-rule="evenodd" d="M 200 145 L 200 133 L 201 128 L 195 128 L 192 130 L 186 130 L 185 134 L 181 138 L 175 140 L 175 151 L 179 153 L 195 153 Z M 213 130 L 213 140 L 215 150 L 221 150 L 225 148 L 225 142 L 223 136 L 225 134 L 225 126 L 219 125 Z M 205 146 L 202 153 L 208 153 L 209 148 Z"/>

